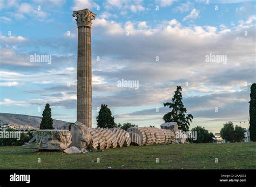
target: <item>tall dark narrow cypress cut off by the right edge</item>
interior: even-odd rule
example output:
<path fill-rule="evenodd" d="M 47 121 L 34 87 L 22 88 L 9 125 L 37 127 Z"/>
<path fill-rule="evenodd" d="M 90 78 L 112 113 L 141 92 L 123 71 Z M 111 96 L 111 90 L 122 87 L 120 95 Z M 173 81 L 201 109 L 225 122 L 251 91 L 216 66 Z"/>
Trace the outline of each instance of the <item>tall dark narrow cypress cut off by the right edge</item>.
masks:
<path fill-rule="evenodd" d="M 256 141 L 256 83 L 253 83 L 251 86 L 250 97 L 250 139 Z"/>

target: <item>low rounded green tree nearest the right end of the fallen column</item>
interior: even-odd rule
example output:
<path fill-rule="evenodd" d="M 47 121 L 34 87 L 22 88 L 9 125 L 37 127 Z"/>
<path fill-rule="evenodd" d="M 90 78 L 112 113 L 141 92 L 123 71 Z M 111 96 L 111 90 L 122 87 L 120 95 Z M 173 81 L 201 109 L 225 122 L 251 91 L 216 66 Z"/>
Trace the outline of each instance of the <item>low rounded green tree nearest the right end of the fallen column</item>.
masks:
<path fill-rule="evenodd" d="M 213 133 L 209 133 L 208 130 L 205 129 L 205 127 L 194 127 L 191 131 L 197 132 L 196 140 L 191 139 L 193 143 L 209 143 L 212 142 L 214 138 Z"/>

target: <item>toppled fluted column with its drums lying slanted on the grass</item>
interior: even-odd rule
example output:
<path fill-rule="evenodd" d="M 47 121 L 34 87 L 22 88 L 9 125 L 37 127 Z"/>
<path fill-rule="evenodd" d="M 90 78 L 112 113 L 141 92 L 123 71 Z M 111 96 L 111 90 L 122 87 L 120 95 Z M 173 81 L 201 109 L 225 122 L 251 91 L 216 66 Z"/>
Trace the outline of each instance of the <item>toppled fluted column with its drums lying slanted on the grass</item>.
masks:
<path fill-rule="evenodd" d="M 71 125 L 73 134 L 71 146 L 85 149 L 109 149 L 117 147 L 149 146 L 160 143 L 177 143 L 176 132 L 154 127 L 132 127 L 126 131 L 120 128 L 88 128 L 76 122 Z M 179 141 L 185 143 L 185 141 Z M 178 142 L 178 143 L 179 143 Z"/>

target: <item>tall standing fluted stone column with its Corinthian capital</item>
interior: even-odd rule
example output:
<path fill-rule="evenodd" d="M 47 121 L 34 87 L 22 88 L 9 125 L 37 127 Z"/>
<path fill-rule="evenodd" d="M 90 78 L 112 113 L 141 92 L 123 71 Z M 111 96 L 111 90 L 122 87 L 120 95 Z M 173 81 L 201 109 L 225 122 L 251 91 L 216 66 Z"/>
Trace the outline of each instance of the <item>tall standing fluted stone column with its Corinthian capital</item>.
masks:
<path fill-rule="evenodd" d="M 92 126 L 91 25 L 95 13 L 89 9 L 73 11 L 78 27 L 77 121 Z"/>

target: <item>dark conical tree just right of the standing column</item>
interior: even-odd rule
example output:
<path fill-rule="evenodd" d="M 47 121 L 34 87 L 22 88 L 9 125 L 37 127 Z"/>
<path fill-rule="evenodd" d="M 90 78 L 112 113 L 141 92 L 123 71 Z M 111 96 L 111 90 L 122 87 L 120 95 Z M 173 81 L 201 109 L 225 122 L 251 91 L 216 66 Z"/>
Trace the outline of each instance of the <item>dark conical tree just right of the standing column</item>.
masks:
<path fill-rule="evenodd" d="M 114 117 L 112 117 L 112 113 L 107 105 L 102 104 L 99 110 L 99 116 L 96 117 L 97 119 L 97 127 L 100 128 L 113 128 L 116 127 L 114 123 Z"/>

